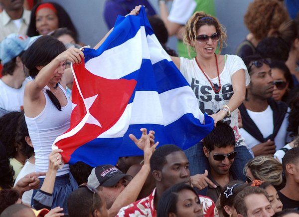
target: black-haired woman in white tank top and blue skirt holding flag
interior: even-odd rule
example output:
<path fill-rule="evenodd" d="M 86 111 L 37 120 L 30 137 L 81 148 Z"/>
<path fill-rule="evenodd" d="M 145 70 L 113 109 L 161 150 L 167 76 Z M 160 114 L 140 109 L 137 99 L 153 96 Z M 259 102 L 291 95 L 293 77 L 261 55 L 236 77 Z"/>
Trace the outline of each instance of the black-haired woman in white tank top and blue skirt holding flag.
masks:
<path fill-rule="evenodd" d="M 66 61 L 78 64 L 83 58 L 81 50 L 74 47 L 66 50 L 62 42 L 49 35 L 38 38 L 22 55 L 24 70 L 33 78 L 25 87 L 24 111 L 35 152 L 35 172 L 48 170 L 53 142 L 70 127 L 72 102 L 65 88 L 74 77 L 71 70 L 64 73 L 65 64 Z M 55 158 L 62 163 L 58 152 Z M 43 181 L 44 177 L 40 178 L 40 186 Z M 56 175 L 52 208 L 63 207 L 67 212 L 67 196 L 77 187 L 66 164 Z M 36 192 L 33 192 L 33 198 L 35 194 L 37 198 L 46 197 Z"/>

